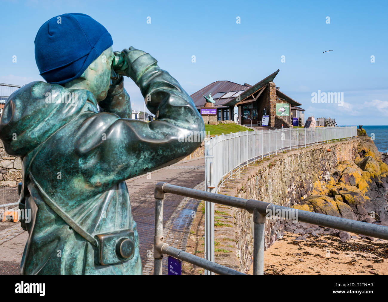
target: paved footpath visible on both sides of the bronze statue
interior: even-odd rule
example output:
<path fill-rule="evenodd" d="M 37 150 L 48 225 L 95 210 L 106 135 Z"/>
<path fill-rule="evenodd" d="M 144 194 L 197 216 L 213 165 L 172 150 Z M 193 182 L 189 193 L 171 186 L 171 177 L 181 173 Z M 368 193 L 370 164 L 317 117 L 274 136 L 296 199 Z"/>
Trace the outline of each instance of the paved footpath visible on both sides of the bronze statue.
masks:
<path fill-rule="evenodd" d="M 155 199 L 154 188 L 158 182 L 168 182 L 188 188 L 204 190 L 204 158 L 178 162 L 173 166 L 156 170 L 126 181 L 130 194 L 133 219 L 137 222 L 140 237 L 140 257 L 143 274 L 153 273 L 153 236 Z M 167 194 L 164 204 L 165 242 L 185 249 L 191 223 L 200 201 Z M 0 275 L 19 274 L 20 260 L 28 234 L 20 223 L 0 222 Z M 164 257 L 164 274 L 166 261 Z"/>

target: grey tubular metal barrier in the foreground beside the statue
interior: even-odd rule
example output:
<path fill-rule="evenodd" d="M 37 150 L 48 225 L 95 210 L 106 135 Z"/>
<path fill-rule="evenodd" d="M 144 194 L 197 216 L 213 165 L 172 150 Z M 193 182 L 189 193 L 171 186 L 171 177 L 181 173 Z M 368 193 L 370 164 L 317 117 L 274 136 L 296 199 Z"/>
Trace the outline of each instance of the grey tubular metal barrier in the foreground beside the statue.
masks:
<path fill-rule="evenodd" d="M 155 234 L 154 234 L 154 275 L 162 274 L 163 254 L 170 255 L 195 264 L 204 269 L 222 275 L 242 275 L 243 273 L 214 263 L 210 260 L 192 255 L 183 250 L 173 248 L 163 242 L 163 202 L 165 194 L 171 193 L 180 196 L 200 199 L 211 203 L 223 204 L 240 209 L 246 209 L 253 213 L 253 274 L 264 274 L 264 237 L 266 217 L 275 216 L 284 219 L 296 217 L 298 221 L 330 227 L 337 230 L 354 232 L 365 236 L 371 236 L 388 240 L 388 227 L 374 225 L 372 223 L 360 222 L 336 216 L 302 211 L 284 206 L 277 206 L 263 201 L 253 199 L 242 199 L 222 194 L 210 193 L 196 189 L 189 189 L 159 182 L 155 187 Z"/>

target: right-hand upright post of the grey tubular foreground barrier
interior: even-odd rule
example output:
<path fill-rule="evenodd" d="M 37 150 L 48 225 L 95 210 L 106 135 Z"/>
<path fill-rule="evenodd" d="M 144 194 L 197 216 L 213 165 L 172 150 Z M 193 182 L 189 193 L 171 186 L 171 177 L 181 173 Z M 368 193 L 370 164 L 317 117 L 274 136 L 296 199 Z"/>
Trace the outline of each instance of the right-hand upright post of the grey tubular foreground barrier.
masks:
<path fill-rule="evenodd" d="M 265 215 L 259 213 L 257 209 L 253 211 L 253 274 L 264 274 L 264 230 Z"/>

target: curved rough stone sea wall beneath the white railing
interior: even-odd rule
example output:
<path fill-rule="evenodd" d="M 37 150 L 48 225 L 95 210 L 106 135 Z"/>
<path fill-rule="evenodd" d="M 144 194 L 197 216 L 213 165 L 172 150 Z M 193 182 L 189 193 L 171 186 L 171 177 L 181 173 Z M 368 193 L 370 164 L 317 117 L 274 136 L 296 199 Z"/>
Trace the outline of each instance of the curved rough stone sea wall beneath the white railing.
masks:
<path fill-rule="evenodd" d="M 340 161 L 353 161 L 357 153 L 358 139 L 330 143 L 275 155 L 241 172 L 241 179 L 221 194 L 244 199 L 256 199 L 281 206 L 291 206 L 301 197 L 310 196 L 314 183 L 325 180 L 328 173 Z M 331 152 L 327 151 L 331 148 Z M 253 261 L 253 215 L 233 208 L 236 229 L 237 257 L 241 272 L 248 272 Z M 268 220 L 265 229 L 265 248 L 282 237 L 283 221 Z"/>

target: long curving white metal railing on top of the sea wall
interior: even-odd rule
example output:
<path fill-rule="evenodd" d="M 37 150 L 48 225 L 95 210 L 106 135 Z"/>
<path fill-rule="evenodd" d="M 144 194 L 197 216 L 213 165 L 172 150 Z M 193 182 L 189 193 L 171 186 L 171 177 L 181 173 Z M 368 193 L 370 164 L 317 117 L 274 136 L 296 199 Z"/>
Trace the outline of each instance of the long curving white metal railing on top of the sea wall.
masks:
<path fill-rule="evenodd" d="M 284 150 L 323 144 L 357 136 L 356 126 L 285 128 L 262 131 L 245 131 L 215 136 L 205 141 L 205 180 L 210 177 L 213 165 L 212 185 L 216 192 L 224 181 L 232 178 L 234 170 L 259 158 Z"/>

